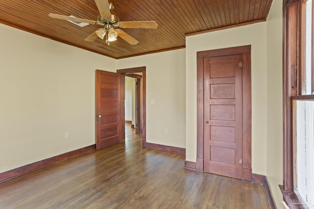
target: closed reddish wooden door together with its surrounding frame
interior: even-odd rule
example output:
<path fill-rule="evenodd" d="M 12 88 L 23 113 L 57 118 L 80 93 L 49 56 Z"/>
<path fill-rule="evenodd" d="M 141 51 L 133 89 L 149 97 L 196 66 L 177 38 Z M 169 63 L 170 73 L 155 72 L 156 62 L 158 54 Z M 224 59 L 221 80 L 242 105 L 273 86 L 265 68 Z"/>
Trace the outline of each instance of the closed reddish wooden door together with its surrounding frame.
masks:
<path fill-rule="evenodd" d="M 251 181 L 251 46 L 197 52 L 197 82 L 196 169 Z"/>

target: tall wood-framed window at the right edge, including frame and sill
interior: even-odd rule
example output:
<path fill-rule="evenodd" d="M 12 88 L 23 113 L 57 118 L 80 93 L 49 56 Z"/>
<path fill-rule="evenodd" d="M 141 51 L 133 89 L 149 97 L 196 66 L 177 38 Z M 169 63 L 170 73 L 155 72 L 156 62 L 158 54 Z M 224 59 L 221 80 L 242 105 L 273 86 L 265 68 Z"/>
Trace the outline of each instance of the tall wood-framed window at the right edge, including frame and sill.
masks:
<path fill-rule="evenodd" d="M 290 208 L 314 209 L 313 0 L 284 0 L 284 184 Z"/>

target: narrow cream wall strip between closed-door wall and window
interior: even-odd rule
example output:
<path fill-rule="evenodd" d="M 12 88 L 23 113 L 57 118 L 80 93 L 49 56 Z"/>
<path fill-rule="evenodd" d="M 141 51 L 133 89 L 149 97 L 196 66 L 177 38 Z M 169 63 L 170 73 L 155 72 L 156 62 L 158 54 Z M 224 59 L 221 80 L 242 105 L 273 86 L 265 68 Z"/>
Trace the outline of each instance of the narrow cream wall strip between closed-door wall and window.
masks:
<path fill-rule="evenodd" d="M 277 208 L 284 208 L 278 187 L 283 184 L 282 17 L 282 0 L 273 0 L 266 22 L 266 174 Z"/>

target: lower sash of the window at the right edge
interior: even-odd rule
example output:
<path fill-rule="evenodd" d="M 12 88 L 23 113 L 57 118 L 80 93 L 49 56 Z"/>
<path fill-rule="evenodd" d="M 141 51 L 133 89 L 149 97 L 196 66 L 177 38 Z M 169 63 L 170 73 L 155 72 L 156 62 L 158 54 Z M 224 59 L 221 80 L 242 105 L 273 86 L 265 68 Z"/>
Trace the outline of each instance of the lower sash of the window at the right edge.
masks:
<path fill-rule="evenodd" d="M 292 97 L 294 192 L 300 203 L 314 209 L 314 99 Z"/>

